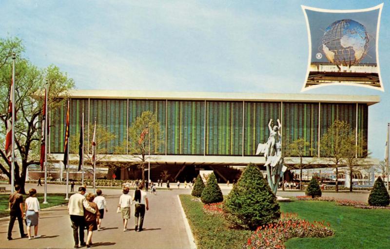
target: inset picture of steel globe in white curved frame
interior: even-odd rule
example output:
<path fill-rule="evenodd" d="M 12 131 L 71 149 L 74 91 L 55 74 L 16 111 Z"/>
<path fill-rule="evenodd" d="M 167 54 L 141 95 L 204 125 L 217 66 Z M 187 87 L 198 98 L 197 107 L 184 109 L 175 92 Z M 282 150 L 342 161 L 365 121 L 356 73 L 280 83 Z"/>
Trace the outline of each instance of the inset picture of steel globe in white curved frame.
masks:
<path fill-rule="evenodd" d="M 302 5 L 309 36 L 309 62 L 301 92 L 353 85 L 384 91 L 378 37 L 383 3 L 368 9 L 328 10 Z"/>

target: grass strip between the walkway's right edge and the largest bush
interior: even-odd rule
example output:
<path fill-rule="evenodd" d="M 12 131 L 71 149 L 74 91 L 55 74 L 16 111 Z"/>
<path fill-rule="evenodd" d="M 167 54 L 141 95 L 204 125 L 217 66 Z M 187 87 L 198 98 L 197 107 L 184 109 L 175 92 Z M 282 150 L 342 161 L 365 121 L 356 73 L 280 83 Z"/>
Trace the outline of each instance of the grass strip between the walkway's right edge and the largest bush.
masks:
<path fill-rule="evenodd" d="M 198 249 L 241 248 L 251 236 L 251 231 L 230 228 L 223 217 L 205 214 L 203 204 L 193 198 L 180 195 Z"/>

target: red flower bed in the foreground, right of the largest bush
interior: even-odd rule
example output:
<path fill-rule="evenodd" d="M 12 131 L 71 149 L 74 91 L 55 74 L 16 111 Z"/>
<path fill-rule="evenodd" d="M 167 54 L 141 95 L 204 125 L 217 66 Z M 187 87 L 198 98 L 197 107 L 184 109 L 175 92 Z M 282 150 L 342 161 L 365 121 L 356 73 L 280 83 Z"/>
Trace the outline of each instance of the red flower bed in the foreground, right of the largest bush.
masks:
<path fill-rule="evenodd" d="M 293 237 L 327 237 L 333 235 L 330 224 L 313 223 L 297 218 L 295 213 L 282 213 L 277 223 L 258 227 L 248 239 L 245 249 L 277 249 Z"/>

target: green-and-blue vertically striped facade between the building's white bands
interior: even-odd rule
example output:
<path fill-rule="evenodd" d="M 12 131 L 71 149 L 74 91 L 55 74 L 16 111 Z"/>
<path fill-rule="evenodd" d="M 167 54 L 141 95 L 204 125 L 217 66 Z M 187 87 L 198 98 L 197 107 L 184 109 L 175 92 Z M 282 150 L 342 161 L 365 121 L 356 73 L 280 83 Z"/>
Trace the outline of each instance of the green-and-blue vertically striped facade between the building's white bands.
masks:
<path fill-rule="evenodd" d="M 126 151 L 128 127 L 148 110 L 156 114 L 164 141 L 152 152 L 168 155 L 254 155 L 257 144 L 268 139 L 269 120 L 276 125 L 277 118 L 282 122 L 283 149 L 302 137 L 310 143 L 306 156 L 316 155 L 318 137 L 336 119 L 357 127 L 358 143 L 367 142 L 368 134 L 367 104 L 74 98 L 70 105 L 71 136 L 79 134 L 84 109 L 85 146 L 90 146 L 88 125 L 91 131 L 95 117 L 98 125 L 116 135 L 104 145 L 106 153 Z M 63 153 L 66 106 L 50 113 L 50 152 Z M 78 139 L 70 143 L 76 148 Z"/>

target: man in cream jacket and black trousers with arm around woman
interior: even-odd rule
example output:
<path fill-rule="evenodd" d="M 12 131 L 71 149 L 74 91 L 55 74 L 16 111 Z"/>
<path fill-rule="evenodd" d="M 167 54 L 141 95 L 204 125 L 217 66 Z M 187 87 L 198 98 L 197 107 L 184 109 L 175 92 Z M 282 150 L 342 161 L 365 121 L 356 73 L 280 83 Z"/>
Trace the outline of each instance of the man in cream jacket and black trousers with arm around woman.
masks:
<path fill-rule="evenodd" d="M 85 198 L 85 191 L 85 187 L 79 187 L 78 192 L 72 194 L 68 202 L 68 212 L 72 222 L 73 239 L 75 240 L 74 248 L 79 247 L 78 242 L 80 242 L 81 247 L 86 246 L 86 243 L 84 242 L 84 208 L 91 213 L 96 213 L 95 209 L 91 208 L 87 199 Z"/>

